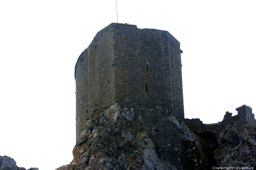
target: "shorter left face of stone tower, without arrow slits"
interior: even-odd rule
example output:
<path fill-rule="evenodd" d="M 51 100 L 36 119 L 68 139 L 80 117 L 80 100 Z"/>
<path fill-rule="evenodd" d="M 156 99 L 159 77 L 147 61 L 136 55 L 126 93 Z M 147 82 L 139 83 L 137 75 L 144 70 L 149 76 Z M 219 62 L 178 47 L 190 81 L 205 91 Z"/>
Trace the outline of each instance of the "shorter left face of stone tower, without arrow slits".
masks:
<path fill-rule="evenodd" d="M 76 79 L 76 139 L 94 111 L 114 103 L 112 27 L 97 33 L 79 56 Z"/>

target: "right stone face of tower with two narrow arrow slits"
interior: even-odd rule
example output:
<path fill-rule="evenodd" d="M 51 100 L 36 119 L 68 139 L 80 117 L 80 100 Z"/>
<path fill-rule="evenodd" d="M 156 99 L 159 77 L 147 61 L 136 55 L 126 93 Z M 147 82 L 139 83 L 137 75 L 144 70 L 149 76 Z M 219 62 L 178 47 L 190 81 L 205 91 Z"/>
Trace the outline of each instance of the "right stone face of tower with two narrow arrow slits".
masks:
<path fill-rule="evenodd" d="M 167 31 L 112 27 L 116 103 L 141 114 L 161 158 L 178 159 L 181 139 L 170 119 L 184 120 L 180 43 Z"/>

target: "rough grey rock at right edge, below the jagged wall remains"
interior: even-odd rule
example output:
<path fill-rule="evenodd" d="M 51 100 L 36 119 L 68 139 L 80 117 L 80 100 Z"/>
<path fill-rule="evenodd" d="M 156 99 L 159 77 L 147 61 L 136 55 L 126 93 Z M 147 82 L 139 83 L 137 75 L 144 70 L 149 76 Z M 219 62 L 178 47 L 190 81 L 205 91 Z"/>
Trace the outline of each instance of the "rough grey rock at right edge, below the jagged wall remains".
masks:
<path fill-rule="evenodd" d="M 219 166 L 254 167 L 256 169 L 256 129 L 253 126 L 233 126 L 219 134 L 219 148 L 214 151 L 214 158 Z"/>

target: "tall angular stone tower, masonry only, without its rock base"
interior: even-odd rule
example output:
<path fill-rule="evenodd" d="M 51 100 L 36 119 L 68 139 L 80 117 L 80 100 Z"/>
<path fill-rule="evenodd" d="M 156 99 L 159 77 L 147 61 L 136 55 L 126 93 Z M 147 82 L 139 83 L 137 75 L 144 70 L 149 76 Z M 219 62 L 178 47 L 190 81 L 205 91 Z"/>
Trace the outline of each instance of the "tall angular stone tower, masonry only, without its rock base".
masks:
<path fill-rule="evenodd" d="M 160 157 L 182 154 L 181 52 L 167 31 L 117 23 L 99 31 L 75 66 L 76 140 L 96 110 L 119 103 L 143 117 L 148 134 L 159 131 L 151 138 Z"/>

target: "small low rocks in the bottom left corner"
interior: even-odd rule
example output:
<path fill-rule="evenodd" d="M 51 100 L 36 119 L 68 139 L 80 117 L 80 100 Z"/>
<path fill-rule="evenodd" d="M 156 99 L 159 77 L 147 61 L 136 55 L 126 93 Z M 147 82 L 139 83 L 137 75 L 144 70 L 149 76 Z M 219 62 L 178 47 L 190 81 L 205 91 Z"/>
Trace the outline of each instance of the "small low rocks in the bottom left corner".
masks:
<path fill-rule="evenodd" d="M 0 170 L 26 170 L 23 167 L 16 166 L 14 159 L 8 156 L 0 156 Z M 38 170 L 38 168 L 30 168 L 28 170 Z"/>

